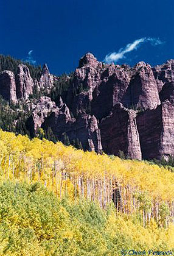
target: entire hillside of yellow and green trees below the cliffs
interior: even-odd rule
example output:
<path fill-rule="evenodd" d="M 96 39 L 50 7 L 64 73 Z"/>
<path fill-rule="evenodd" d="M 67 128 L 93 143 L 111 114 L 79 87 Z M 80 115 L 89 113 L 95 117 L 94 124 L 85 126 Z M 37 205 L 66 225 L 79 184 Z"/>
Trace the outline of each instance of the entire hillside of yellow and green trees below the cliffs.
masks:
<path fill-rule="evenodd" d="M 0 254 L 174 249 L 174 174 L 0 130 Z"/>

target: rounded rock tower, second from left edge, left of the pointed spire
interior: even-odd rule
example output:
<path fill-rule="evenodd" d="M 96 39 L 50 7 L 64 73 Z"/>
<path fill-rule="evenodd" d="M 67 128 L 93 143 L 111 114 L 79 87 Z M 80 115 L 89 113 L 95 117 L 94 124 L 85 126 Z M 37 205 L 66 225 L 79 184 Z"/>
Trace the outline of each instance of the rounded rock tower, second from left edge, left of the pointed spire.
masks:
<path fill-rule="evenodd" d="M 33 93 L 33 79 L 30 76 L 29 68 L 26 65 L 19 65 L 15 77 L 16 95 L 18 99 L 27 99 Z"/>

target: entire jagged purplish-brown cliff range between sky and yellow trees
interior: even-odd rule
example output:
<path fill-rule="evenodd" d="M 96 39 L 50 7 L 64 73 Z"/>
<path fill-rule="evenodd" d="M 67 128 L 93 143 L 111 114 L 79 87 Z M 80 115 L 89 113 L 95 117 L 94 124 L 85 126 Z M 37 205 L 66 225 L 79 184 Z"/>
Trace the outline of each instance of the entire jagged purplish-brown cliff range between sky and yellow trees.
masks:
<path fill-rule="evenodd" d="M 35 91 L 37 99 L 34 94 L 31 100 Z M 21 64 L 16 74 L 2 71 L 0 94 L 26 105 L 32 136 L 42 127 L 88 151 L 122 151 L 139 160 L 174 155 L 174 60 L 153 68 L 139 62 L 130 68 L 98 62 L 88 53 L 72 79 L 64 80 L 52 76 L 47 65 L 33 79 Z"/>

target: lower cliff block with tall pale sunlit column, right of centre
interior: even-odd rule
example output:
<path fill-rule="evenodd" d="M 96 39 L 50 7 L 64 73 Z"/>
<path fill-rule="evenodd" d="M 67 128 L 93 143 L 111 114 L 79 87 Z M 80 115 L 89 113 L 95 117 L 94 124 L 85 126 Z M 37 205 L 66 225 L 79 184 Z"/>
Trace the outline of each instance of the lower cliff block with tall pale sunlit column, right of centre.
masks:
<path fill-rule="evenodd" d="M 122 151 L 131 159 L 141 160 L 139 132 L 134 110 L 128 110 L 122 104 L 116 104 L 113 112 L 102 119 L 99 127 L 103 151 L 114 155 Z"/>

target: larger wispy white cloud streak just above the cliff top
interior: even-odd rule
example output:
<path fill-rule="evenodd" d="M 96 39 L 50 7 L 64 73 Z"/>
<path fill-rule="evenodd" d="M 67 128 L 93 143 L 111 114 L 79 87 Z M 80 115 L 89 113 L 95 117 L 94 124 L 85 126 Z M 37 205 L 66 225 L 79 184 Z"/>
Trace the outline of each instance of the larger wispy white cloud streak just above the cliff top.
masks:
<path fill-rule="evenodd" d="M 104 62 L 111 63 L 111 62 L 117 62 L 120 59 L 125 59 L 125 54 L 127 54 L 127 52 L 136 50 L 142 43 L 147 43 L 147 42 L 150 42 L 151 45 L 153 46 L 164 43 L 161 40 L 159 40 L 159 38 L 150 38 L 150 37 L 140 38 L 133 41 L 133 43 L 128 43 L 125 48 L 119 49 L 118 52 L 111 52 L 110 54 L 106 55 Z"/>

